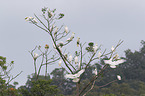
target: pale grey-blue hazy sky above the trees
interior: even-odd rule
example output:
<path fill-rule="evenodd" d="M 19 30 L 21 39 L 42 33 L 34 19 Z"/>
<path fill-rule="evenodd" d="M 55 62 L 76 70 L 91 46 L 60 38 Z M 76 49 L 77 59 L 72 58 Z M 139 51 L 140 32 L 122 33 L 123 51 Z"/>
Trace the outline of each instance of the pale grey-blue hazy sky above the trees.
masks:
<path fill-rule="evenodd" d="M 42 7 L 64 13 L 58 24 L 67 25 L 83 42 L 94 41 L 110 50 L 124 40 L 117 50 L 120 56 L 126 49 L 138 50 L 145 40 L 145 0 L 0 0 L 0 55 L 15 61 L 13 75 L 23 71 L 15 79 L 20 84 L 34 72 L 28 51 L 51 44 L 48 34 L 24 20 L 40 15 Z"/>

